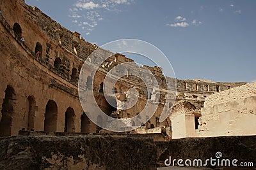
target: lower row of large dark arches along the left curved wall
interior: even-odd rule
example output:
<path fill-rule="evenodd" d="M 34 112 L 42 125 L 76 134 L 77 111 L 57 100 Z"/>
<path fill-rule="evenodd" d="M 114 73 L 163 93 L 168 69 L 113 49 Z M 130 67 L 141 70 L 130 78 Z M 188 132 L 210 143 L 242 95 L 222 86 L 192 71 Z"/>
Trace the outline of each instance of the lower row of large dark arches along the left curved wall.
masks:
<path fill-rule="evenodd" d="M 2 104 L 2 110 L 0 114 L 0 136 L 10 136 L 17 134 L 12 132 L 13 125 L 19 124 L 19 130 L 24 129 L 26 131 L 33 131 L 35 129 L 36 121 L 38 120 L 38 107 L 36 106 L 36 100 L 34 96 L 29 96 L 24 104 L 25 114 L 22 117 L 18 117 L 16 94 L 13 87 L 8 85 L 4 91 L 4 99 Z M 15 118 L 15 120 L 14 120 Z M 73 108 L 68 107 L 65 111 L 65 126 L 63 132 L 75 132 L 76 131 L 76 114 Z M 19 119 L 19 120 L 18 120 Z M 24 124 L 20 123 L 24 121 Z M 44 131 L 45 132 L 56 132 L 58 121 L 58 106 L 54 100 L 49 100 L 45 106 L 44 113 Z M 97 118 L 98 124 L 102 124 L 102 118 Z M 85 113 L 81 115 L 81 129 L 80 132 L 89 133 L 91 132 L 91 121 Z M 100 128 L 97 128 L 99 132 Z M 77 132 L 77 131 L 76 131 Z"/>

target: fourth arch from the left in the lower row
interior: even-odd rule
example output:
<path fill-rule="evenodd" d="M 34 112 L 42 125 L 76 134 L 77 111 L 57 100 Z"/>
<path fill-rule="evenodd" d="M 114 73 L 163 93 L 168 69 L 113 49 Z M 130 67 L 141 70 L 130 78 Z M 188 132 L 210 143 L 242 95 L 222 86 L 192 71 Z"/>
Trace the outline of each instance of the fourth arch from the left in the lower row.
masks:
<path fill-rule="evenodd" d="M 73 108 L 67 108 L 65 113 L 65 128 L 64 132 L 74 132 L 75 131 L 75 111 Z"/>

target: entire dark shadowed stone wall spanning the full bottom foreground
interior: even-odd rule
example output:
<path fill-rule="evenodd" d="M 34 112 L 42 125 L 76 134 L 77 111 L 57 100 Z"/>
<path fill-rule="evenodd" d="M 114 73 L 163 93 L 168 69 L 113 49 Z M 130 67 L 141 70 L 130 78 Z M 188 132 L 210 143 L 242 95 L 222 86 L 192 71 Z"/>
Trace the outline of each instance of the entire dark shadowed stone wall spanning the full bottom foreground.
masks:
<path fill-rule="evenodd" d="M 246 162 L 256 167 L 256 136 L 228 136 L 216 138 L 172 139 L 154 142 L 148 138 L 122 138 L 103 136 L 13 136 L 0 138 L 0 169 L 156 169 L 172 157 L 177 161 L 215 159 L 205 167 L 218 166 L 216 153 L 223 159 L 237 159 L 237 165 Z M 214 163 L 212 162 L 212 163 Z M 197 165 L 197 162 L 195 162 Z M 200 164 L 200 162 L 199 162 Z M 221 165 L 221 164 L 220 164 Z M 186 166 L 184 167 L 186 168 Z M 204 167 L 201 166 L 203 169 Z M 241 169 L 239 166 L 237 169 Z M 191 166 L 188 167 L 191 169 Z"/>

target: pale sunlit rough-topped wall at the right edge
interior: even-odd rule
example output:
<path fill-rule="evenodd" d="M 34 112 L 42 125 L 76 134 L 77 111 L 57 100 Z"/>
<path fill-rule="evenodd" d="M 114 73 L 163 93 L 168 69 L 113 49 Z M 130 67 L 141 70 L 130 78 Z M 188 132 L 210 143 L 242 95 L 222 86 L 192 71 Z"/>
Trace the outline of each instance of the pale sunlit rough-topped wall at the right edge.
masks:
<path fill-rule="evenodd" d="M 256 134 L 256 83 L 209 96 L 200 118 L 200 136 Z"/>

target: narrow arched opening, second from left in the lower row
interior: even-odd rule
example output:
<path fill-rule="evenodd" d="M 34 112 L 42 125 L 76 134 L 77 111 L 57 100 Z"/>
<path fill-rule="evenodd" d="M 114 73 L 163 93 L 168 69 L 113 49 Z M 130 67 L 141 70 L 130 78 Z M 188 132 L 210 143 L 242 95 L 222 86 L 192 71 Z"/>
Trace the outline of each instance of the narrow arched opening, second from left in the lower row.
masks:
<path fill-rule="evenodd" d="M 28 125 L 27 130 L 34 129 L 35 113 L 36 113 L 36 101 L 35 97 L 29 96 L 27 99 L 27 110 L 28 110 Z"/>

